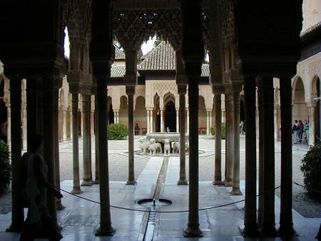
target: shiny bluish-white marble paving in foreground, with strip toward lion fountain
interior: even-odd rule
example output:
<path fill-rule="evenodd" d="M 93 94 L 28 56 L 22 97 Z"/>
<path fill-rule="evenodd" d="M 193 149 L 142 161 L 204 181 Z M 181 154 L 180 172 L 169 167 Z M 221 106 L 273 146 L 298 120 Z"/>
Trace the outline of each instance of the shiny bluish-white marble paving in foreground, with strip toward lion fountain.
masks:
<path fill-rule="evenodd" d="M 136 210 L 149 210 L 142 207 L 137 201 L 143 198 L 153 198 L 158 175 L 161 171 L 163 158 L 152 157 L 146 168 L 137 179 L 137 185 L 126 185 L 125 182 L 110 182 L 111 205 L 133 208 Z M 171 205 L 157 207 L 161 211 L 188 210 L 188 185 L 176 185 L 179 173 L 179 158 L 169 158 L 165 183 L 161 188 L 161 198 L 171 200 Z M 61 183 L 63 190 L 72 189 L 72 181 Z M 241 182 L 244 193 L 244 182 Z M 83 187 L 83 198 L 99 202 L 98 185 Z M 212 207 L 238 200 L 244 196 L 229 195 L 230 188 L 213 186 L 210 181 L 202 181 L 199 185 L 199 205 Z M 64 210 L 58 211 L 58 222 L 63 227 L 63 240 L 93 241 L 93 240 L 290 240 L 275 238 L 243 238 L 239 227 L 243 227 L 243 205 L 228 205 L 225 207 L 199 212 L 200 229 L 203 237 L 185 238 L 183 229 L 188 222 L 188 212 L 151 213 L 121 210 L 111 207 L 112 225 L 116 229 L 113 237 L 96 237 L 94 230 L 99 224 L 100 207 L 95 202 L 89 202 L 63 193 Z M 275 223 L 278 225 L 280 213 L 280 199 L 275 196 Z M 153 207 L 151 207 L 153 210 Z M 0 215 L 0 240 L 19 240 L 19 233 L 4 232 L 9 226 L 11 212 Z M 150 222 L 148 222 L 148 220 Z M 320 226 L 320 219 L 305 218 L 293 210 L 293 222 L 299 236 L 292 240 L 315 240 Z M 153 225 L 153 229 L 151 229 Z M 147 231 L 147 232 L 146 232 Z"/>

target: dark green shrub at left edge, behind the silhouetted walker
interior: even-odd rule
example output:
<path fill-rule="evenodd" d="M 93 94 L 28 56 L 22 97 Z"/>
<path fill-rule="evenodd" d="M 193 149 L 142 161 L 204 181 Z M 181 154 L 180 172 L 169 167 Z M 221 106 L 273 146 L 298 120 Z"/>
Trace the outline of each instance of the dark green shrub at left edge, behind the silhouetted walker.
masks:
<path fill-rule="evenodd" d="M 9 188 L 11 180 L 11 164 L 9 158 L 9 146 L 3 140 L 0 140 L 0 194 Z"/>

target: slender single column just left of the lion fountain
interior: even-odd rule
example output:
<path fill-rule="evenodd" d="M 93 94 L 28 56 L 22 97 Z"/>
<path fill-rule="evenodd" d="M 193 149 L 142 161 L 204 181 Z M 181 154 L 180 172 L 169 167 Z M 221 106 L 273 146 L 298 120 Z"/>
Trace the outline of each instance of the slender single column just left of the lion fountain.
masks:
<path fill-rule="evenodd" d="M 136 184 L 134 173 L 134 120 L 133 120 L 133 96 L 135 86 L 126 86 L 128 96 L 128 180 L 127 185 Z"/>

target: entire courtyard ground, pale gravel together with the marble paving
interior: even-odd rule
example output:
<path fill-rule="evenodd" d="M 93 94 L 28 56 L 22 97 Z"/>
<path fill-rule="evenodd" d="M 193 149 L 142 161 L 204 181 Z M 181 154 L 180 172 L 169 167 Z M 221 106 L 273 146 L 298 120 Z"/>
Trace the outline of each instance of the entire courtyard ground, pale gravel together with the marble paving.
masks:
<path fill-rule="evenodd" d="M 138 137 L 136 137 L 135 148 L 138 149 Z M 92 139 L 92 143 L 94 143 Z M 79 141 L 79 160 L 82 176 L 82 140 Z M 136 210 L 149 210 L 137 204 L 137 200 L 142 198 L 153 198 L 156 193 L 156 186 L 161 177 L 162 166 L 167 166 L 167 171 L 161 183 L 160 198 L 168 198 L 173 201 L 171 205 L 157 207 L 156 210 L 173 211 L 188 209 L 188 186 L 178 186 L 179 158 L 165 158 L 156 156 L 135 155 L 135 173 L 138 181 L 137 185 L 126 185 L 128 155 L 127 140 L 108 141 L 109 150 L 109 177 L 111 181 L 111 205 L 120 207 L 130 207 Z M 199 158 L 200 207 L 210 207 L 223 205 L 244 199 L 244 196 L 230 196 L 230 188 L 215 187 L 211 185 L 213 180 L 214 161 L 214 139 L 208 136 L 200 136 L 199 148 L 202 150 Z M 92 148 L 93 178 L 95 175 L 95 155 L 94 146 Z M 225 150 L 223 141 L 222 150 Z M 300 172 L 300 160 L 305 155 L 304 146 L 293 147 L 293 180 L 302 183 L 302 173 Z M 222 170 L 225 169 L 225 151 L 222 155 Z M 61 164 L 61 188 L 72 189 L 72 142 L 67 141 L 60 144 L 60 164 Z M 245 138 L 241 136 L 240 141 L 240 179 L 241 190 L 244 193 L 245 179 Z M 187 158 L 188 175 L 188 158 Z M 275 185 L 280 184 L 280 143 L 275 143 Z M 98 185 L 82 187 L 81 197 L 99 201 Z M 300 235 L 292 240 L 315 240 L 320 225 L 320 204 L 311 203 L 304 200 L 303 190 L 293 186 L 293 218 L 295 230 Z M 279 194 L 277 190 L 276 194 Z M 58 222 L 63 226 L 63 240 L 189 240 L 183 238 L 183 228 L 188 220 L 188 212 L 181 213 L 149 213 L 134 212 L 111 208 L 113 227 L 116 234 L 113 237 L 95 237 L 94 227 L 99 222 L 99 205 L 86 200 L 73 197 L 63 193 L 63 205 L 66 207 L 58 211 Z M 278 226 L 280 199 L 275 195 L 275 223 Z M 297 198 L 297 196 L 299 198 Z M 303 198 L 302 198 L 303 197 Z M 0 199 L 0 204 L 1 204 Z M 228 205 L 212 210 L 200 211 L 200 228 L 203 231 L 203 238 L 196 240 L 256 240 L 244 239 L 240 236 L 239 227 L 243 226 L 243 205 Z M 153 210 L 153 207 L 151 207 Z M 306 218 L 306 217 L 308 218 Z M 315 218 L 313 218 L 315 217 Z M 19 240 L 19 234 L 4 232 L 11 219 L 11 212 L 0 215 L 0 240 Z M 190 239 L 195 240 L 195 239 Z M 265 239 L 264 239 L 265 240 Z M 281 240 L 280 238 L 269 240 Z"/>

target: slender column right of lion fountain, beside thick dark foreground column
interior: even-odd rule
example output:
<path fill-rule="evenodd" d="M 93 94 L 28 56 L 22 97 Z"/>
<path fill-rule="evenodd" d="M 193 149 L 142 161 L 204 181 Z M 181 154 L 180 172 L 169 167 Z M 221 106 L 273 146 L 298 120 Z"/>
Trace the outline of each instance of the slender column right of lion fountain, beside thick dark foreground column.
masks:
<path fill-rule="evenodd" d="M 186 86 L 178 86 L 178 94 L 180 101 L 180 179 L 178 180 L 178 185 L 188 185 L 186 180 L 186 163 L 185 163 L 185 94 Z"/>

